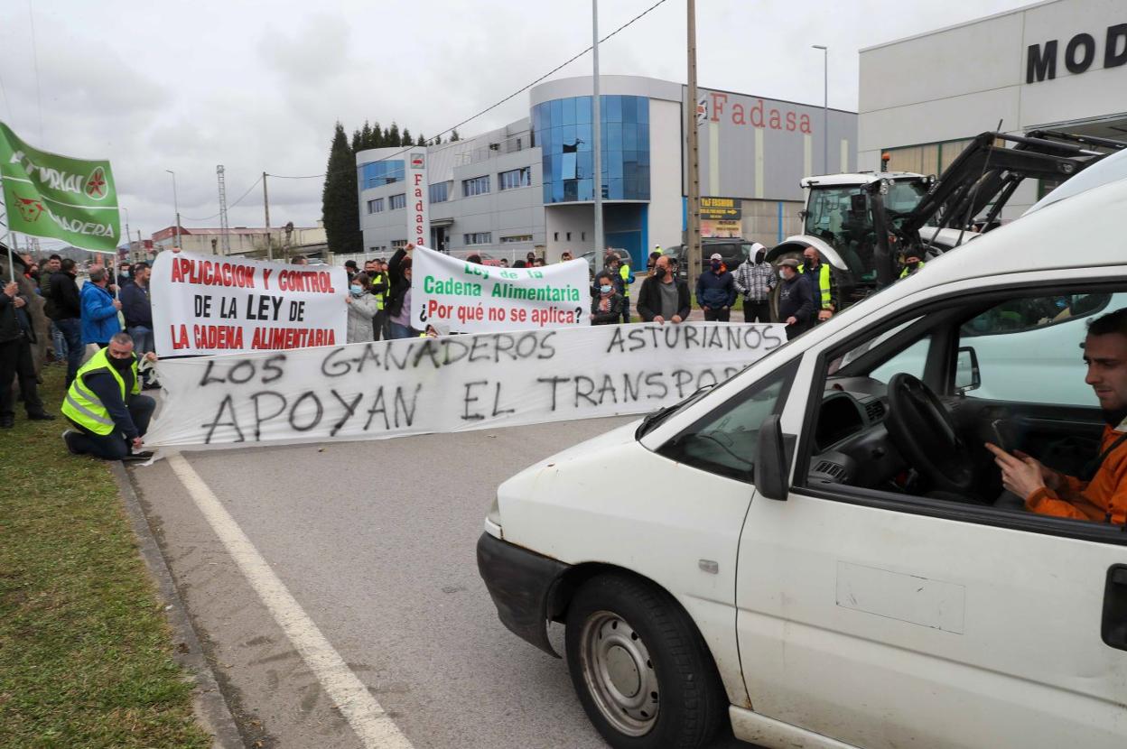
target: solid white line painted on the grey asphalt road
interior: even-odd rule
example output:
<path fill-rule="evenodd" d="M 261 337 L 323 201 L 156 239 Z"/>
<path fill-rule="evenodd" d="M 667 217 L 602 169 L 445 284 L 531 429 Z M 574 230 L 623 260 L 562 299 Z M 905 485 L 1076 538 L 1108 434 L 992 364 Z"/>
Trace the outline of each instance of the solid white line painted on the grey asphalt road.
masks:
<path fill-rule="evenodd" d="M 179 453 L 169 455 L 168 464 L 364 746 L 370 749 L 411 749 L 411 742 L 298 605 L 195 469 Z"/>

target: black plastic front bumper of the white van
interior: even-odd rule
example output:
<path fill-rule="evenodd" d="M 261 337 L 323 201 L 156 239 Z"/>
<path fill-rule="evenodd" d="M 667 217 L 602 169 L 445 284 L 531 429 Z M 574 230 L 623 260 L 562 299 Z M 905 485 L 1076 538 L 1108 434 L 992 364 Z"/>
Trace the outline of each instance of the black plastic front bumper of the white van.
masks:
<path fill-rule="evenodd" d="M 559 653 L 548 641 L 548 597 L 569 567 L 488 533 L 478 538 L 478 572 L 502 624 L 556 658 Z"/>

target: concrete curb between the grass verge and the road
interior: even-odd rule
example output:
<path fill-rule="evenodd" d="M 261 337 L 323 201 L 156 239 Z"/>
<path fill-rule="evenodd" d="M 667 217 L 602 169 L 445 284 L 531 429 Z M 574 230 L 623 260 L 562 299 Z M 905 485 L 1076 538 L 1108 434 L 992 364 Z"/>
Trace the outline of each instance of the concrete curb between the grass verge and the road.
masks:
<path fill-rule="evenodd" d="M 187 667 L 195 677 L 196 716 L 214 737 L 214 747 L 219 749 L 246 749 L 246 743 L 239 733 L 238 724 L 227 704 L 227 698 L 204 657 L 199 637 L 195 627 L 192 626 L 192 619 L 188 617 L 184 600 L 172 581 L 172 573 L 168 569 L 165 555 L 161 553 L 152 527 L 149 525 L 149 518 L 141 507 L 141 500 L 133 488 L 133 481 L 124 464 L 113 462 L 109 465 L 114 480 L 117 482 L 125 511 L 133 524 L 133 533 L 136 535 L 141 556 L 157 585 L 160 599 L 165 603 L 165 616 L 168 618 L 168 623 L 172 627 L 172 635 L 177 641 L 172 658 L 181 666 Z"/>

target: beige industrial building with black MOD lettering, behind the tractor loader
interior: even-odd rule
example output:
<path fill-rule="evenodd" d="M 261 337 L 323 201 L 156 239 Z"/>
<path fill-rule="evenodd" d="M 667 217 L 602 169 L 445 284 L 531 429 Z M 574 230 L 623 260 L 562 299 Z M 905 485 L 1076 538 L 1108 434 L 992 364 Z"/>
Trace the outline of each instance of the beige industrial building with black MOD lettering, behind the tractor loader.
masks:
<path fill-rule="evenodd" d="M 975 135 L 1127 139 L 1127 2 L 1051 0 L 861 51 L 861 169 L 942 173 Z M 999 127 L 1001 123 L 1001 128 Z M 1054 187 L 1023 184 L 1013 219 Z"/>

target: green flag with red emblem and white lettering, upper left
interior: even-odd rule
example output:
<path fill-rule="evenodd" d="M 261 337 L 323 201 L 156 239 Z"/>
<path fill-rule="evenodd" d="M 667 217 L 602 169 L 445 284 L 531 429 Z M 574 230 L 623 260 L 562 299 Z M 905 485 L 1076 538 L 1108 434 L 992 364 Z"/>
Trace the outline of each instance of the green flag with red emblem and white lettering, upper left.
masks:
<path fill-rule="evenodd" d="M 117 248 L 117 188 L 108 161 L 38 151 L 0 123 L 0 179 L 11 231 L 95 252 Z"/>

